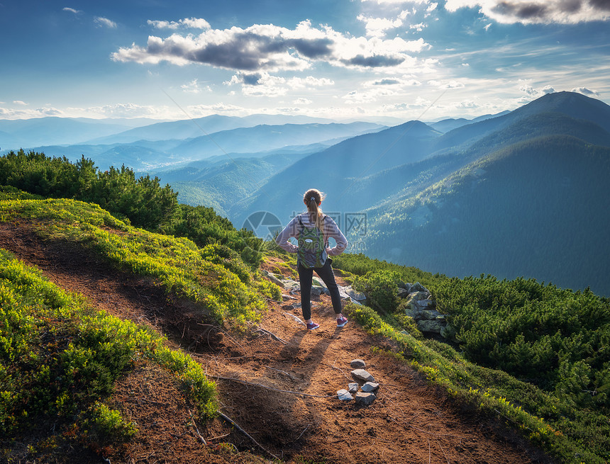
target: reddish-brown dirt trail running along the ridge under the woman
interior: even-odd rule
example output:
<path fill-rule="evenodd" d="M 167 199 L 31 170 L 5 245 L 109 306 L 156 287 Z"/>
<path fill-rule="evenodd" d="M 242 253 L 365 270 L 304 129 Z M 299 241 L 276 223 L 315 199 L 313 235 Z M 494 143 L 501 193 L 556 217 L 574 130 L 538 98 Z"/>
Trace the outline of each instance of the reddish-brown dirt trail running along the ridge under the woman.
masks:
<path fill-rule="evenodd" d="M 168 302 L 159 288 L 117 273 L 81 247 L 43 242 L 28 227 L 9 224 L 0 224 L 0 247 L 37 266 L 62 288 L 82 293 L 95 307 L 149 324 L 176 346 L 190 346 L 194 358 L 216 378 L 221 411 L 268 453 L 218 419 L 199 424 L 201 436 L 209 443 L 226 441 L 265 458 L 271 453 L 294 463 L 551 462 L 506 428 L 456 406 L 409 366 L 374 353 L 371 347 L 383 342 L 353 322 L 336 328 L 326 295 L 312 299 L 314 320 L 321 324 L 313 332 L 284 315 L 289 312 L 302 318 L 287 300 L 270 302 L 260 324 L 282 341 L 264 332 L 237 339 L 196 324 L 185 308 Z M 272 262 L 265 266 L 274 267 Z M 292 301 L 299 302 L 298 293 L 292 296 L 296 298 Z M 354 358 L 365 360 L 367 370 L 381 384 L 370 407 L 336 398 L 337 390 L 353 381 L 350 361 Z M 148 400 L 128 411 L 140 425 L 140 437 L 131 448 L 112 455 L 111 462 L 212 462 L 194 428 L 185 425 L 190 419 L 189 405 L 172 402 L 175 395 L 170 390 L 177 387 L 171 379 L 163 372 L 146 370 L 144 374 L 147 388 L 133 385 L 132 378 L 117 386 L 117 401 L 137 388 L 145 390 L 141 394 L 148 395 Z M 214 455 L 214 462 L 221 462 L 216 459 Z"/>

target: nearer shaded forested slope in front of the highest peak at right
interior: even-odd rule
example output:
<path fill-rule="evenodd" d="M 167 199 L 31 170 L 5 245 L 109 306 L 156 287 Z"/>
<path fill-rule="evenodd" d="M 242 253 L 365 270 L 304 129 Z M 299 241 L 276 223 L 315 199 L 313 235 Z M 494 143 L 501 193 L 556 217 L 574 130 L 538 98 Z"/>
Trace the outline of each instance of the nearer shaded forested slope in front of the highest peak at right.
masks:
<path fill-rule="evenodd" d="M 610 148 L 539 137 L 372 212 L 373 256 L 610 294 Z"/>

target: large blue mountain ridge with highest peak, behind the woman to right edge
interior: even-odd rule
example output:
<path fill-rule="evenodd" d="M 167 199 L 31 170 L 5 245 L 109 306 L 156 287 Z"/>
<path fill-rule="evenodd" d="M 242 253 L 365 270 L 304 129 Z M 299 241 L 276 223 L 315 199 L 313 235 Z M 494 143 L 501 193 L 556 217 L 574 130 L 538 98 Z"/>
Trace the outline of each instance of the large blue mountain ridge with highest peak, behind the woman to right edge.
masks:
<path fill-rule="evenodd" d="M 610 106 L 561 92 L 444 134 L 411 121 L 345 140 L 270 176 L 229 217 L 285 223 L 317 187 L 353 252 L 610 295 L 608 179 Z M 350 230 L 357 215 L 367 227 Z"/>

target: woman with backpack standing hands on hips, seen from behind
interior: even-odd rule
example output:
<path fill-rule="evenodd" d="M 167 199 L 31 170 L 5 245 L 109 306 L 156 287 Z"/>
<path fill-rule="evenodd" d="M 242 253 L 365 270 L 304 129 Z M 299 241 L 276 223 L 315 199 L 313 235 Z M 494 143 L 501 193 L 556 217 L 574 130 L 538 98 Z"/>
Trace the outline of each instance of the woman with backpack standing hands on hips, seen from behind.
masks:
<path fill-rule="evenodd" d="M 282 249 L 289 253 L 297 253 L 296 268 L 301 283 L 301 309 L 307 324 L 307 329 L 314 330 L 320 327 L 311 319 L 311 281 L 314 271 L 320 276 L 328 291 L 331 293 L 333 310 L 337 317 L 337 327 L 343 327 L 348 319 L 343 317 L 339 288 L 335 282 L 335 274 L 331 264 L 333 260 L 328 256 L 337 256 L 348 247 L 348 241 L 339 230 L 332 217 L 328 217 L 320 210 L 324 194 L 315 188 L 308 190 L 303 196 L 307 206 L 307 213 L 294 217 L 275 239 Z M 288 239 L 294 237 L 299 246 L 290 243 Z M 333 237 L 337 244 L 328 247 L 328 239 Z"/>

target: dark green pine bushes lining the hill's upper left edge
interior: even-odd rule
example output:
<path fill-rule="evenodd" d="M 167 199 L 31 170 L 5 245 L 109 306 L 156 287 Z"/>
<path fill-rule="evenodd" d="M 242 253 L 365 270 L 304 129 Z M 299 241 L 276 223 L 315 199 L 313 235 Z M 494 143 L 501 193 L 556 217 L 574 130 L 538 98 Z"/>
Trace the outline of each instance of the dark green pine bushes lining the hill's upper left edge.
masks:
<path fill-rule="evenodd" d="M 169 184 L 161 186 L 156 176 L 136 178 L 124 165 L 100 171 L 84 156 L 72 163 L 66 157 L 20 149 L 0 157 L 0 185 L 44 198 L 96 203 L 135 227 L 187 237 L 199 246 L 223 244 L 253 267 L 262 259 L 262 240 L 253 232 L 236 230 L 213 208 L 178 203 L 178 193 Z"/>

